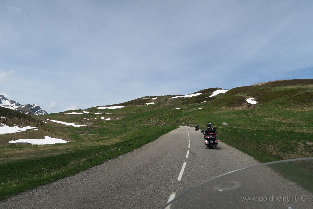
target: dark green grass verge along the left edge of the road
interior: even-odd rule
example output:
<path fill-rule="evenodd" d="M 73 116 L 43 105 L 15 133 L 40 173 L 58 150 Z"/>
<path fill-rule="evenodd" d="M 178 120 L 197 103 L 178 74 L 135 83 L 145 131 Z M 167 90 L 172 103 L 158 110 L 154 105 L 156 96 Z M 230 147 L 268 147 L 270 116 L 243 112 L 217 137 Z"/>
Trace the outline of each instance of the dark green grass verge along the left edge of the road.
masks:
<path fill-rule="evenodd" d="M 116 158 L 159 138 L 175 128 L 177 127 L 149 126 L 147 128 L 136 126 L 133 132 L 127 133 L 131 138 L 114 144 L 99 144 L 87 147 L 81 144 L 81 149 L 69 150 L 69 153 L 1 164 L 0 201 L 8 196 L 99 165 L 105 160 Z"/>

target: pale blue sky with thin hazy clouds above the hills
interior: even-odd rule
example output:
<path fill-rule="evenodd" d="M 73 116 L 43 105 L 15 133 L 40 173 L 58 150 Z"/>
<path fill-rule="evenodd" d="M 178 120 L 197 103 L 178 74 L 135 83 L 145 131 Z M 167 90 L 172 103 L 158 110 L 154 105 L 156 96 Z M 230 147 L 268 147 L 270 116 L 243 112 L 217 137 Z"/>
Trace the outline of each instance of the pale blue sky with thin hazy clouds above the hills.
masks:
<path fill-rule="evenodd" d="M 0 92 L 47 112 L 313 78 L 313 1 L 0 1 Z"/>

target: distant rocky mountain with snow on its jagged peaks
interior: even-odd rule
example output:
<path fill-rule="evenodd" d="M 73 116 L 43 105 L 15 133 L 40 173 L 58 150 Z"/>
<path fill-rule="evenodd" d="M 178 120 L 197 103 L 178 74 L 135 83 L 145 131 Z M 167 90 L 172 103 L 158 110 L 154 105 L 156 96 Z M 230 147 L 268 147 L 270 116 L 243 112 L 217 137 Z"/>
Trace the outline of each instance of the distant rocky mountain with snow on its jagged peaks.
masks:
<path fill-rule="evenodd" d="M 8 100 L 3 95 L 0 95 L 0 107 L 9 108 L 12 110 L 16 110 L 18 112 L 23 112 L 23 113 L 28 114 L 28 115 L 48 115 L 47 111 L 42 110 L 36 104 L 21 105 L 20 103 L 14 101 L 14 100 Z"/>

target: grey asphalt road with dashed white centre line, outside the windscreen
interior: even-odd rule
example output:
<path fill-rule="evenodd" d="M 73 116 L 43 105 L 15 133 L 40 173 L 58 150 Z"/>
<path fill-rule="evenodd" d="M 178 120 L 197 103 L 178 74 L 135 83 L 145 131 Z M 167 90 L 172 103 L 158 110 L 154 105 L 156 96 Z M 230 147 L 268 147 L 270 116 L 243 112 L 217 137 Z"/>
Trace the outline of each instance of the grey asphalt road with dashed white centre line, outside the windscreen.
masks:
<path fill-rule="evenodd" d="M 161 208 L 174 194 L 258 163 L 222 142 L 208 149 L 200 131 L 180 127 L 116 159 L 8 198 L 0 208 Z"/>

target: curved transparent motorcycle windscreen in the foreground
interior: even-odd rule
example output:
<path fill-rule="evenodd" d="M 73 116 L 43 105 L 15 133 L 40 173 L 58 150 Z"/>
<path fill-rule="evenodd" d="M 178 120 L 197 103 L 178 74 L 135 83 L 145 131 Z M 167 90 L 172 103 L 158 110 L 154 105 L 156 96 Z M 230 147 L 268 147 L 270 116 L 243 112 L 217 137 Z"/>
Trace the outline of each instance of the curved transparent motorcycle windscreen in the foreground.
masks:
<path fill-rule="evenodd" d="M 312 194 L 313 158 L 292 159 L 218 176 L 178 196 L 167 208 L 312 208 Z"/>

